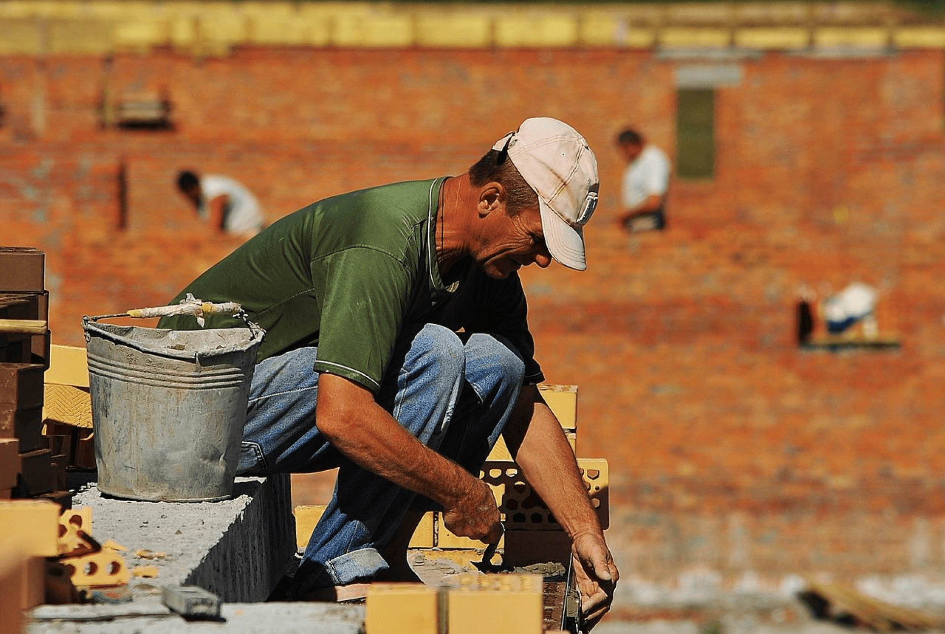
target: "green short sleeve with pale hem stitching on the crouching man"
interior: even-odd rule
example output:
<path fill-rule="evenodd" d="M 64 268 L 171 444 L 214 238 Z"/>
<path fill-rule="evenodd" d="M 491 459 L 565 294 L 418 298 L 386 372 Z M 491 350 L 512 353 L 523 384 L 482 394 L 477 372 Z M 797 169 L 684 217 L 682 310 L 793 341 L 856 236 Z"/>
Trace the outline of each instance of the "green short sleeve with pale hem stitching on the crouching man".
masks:
<path fill-rule="evenodd" d="M 377 393 L 393 354 L 413 279 L 392 255 L 351 247 L 312 265 L 321 322 L 315 371 L 338 374 Z"/>

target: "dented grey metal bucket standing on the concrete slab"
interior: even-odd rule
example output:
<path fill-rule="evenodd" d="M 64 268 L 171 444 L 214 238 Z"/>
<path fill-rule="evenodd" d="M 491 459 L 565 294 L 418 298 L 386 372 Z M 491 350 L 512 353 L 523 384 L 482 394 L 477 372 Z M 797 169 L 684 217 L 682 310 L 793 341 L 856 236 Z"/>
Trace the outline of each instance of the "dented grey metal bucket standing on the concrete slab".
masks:
<path fill-rule="evenodd" d="M 152 502 L 231 497 L 263 331 L 83 327 L 99 490 Z"/>

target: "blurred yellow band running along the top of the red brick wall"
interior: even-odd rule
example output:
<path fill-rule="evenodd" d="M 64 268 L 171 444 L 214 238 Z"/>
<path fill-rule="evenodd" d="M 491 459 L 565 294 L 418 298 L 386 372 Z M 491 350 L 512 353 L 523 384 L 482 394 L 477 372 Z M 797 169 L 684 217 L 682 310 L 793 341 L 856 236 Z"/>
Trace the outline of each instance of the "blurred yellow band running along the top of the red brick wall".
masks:
<path fill-rule="evenodd" d="M 144 50 L 152 45 L 197 44 L 228 50 L 239 43 L 333 43 L 343 46 L 551 46 L 798 48 L 814 35 L 820 45 L 873 48 L 892 40 L 901 47 L 942 47 L 934 21 L 890 28 L 882 12 L 860 26 L 798 26 L 788 15 L 765 11 L 752 19 L 730 9 L 646 9 L 618 6 L 513 11 L 464 7 L 393 7 L 381 3 L 150 2 L 9 0 L 0 2 L 0 52 L 94 53 Z M 43 36 L 41 37 L 40 31 Z M 743 34 L 743 31 L 751 31 Z"/>

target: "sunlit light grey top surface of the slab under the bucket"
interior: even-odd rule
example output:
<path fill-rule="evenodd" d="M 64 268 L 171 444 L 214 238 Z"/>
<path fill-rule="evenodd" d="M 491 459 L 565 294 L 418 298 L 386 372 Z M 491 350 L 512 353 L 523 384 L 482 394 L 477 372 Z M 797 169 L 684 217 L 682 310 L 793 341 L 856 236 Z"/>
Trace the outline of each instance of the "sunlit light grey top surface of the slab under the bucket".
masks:
<path fill-rule="evenodd" d="M 263 486 L 263 478 L 236 478 L 232 499 L 222 502 L 139 502 L 103 496 L 94 483 L 77 490 L 73 508 L 92 508 L 92 537 L 128 548 L 125 558 L 132 598 L 160 593 L 163 586 L 185 583 L 210 549 L 243 513 Z M 136 551 L 166 557 L 138 557 Z M 155 566 L 154 578 L 134 576 L 137 566 Z"/>

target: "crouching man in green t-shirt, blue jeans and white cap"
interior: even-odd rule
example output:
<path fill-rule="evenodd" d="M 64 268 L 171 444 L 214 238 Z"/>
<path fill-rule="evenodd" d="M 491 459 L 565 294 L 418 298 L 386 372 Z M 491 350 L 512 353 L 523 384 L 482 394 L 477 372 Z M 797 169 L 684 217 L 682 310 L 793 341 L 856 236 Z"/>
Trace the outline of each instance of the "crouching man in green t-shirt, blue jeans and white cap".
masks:
<path fill-rule="evenodd" d="M 326 198 L 283 217 L 190 283 L 266 330 L 241 474 L 339 468 L 294 575 L 295 598 L 363 595 L 411 505 L 456 535 L 498 541 L 477 475 L 499 435 L 573 540 L 585 621 L 618 572 L 576 459 L 541 400 L 517 271 L 583 270 L 597 163 L 556 119 L 527 119 L 462 176 Z M 208 326 L 230 325 L 209 317 Z M 194 328 L 165 317 L 162 328 Z M 425 499 L 425 500 L 424 500 Z M 389 550 L 389 549 L 388 549 Z M 387 557 L 381 555 L 384 551 Z"/>

